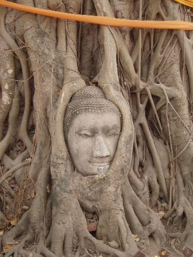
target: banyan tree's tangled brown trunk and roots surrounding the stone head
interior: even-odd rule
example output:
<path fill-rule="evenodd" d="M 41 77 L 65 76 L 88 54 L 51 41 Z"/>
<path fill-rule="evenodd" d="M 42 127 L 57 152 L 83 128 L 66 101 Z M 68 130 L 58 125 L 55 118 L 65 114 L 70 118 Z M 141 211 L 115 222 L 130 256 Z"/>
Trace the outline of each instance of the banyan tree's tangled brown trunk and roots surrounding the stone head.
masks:
<path fill-rule="evenodd" d="M 192 19 L 192 9 L 173 0 L 10 2 L 120 19 Z M 169 233 L 172 248 L 176 238 L 193 248 L 192 39 L 192 31 L 114 28 L 0 7 L 5 256 L 69 257 L 90 249 L 133 256 L 146 251 L 150 237 L 165 242 L 160 210 L 181 230 Z M 107 175 L 75 179 L 64 115 L 72 96 L 93 85 L 119 108 L 122 130 Z M 99 209 L 90 208 L 91 199 Z M 88 229 L 91 212 L 96 236 Z"/>

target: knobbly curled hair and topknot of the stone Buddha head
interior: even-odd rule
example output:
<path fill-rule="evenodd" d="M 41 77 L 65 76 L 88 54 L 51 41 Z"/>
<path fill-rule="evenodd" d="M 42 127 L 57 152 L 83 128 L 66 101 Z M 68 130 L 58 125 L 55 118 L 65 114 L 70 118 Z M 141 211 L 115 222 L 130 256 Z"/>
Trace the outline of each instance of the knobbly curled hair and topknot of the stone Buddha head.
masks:
<path fill-rule="evenodd" d="M 107 100 L 103 91 L 97 86 L 85 86 L 80 89 L 68 103 L 64 117 L 64 135 L 68 134 L 69 125 L 79 113 L 117 113 L 120 112 L 117 106 Z"/>

